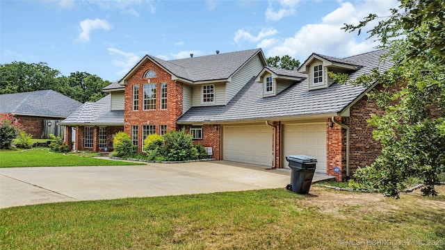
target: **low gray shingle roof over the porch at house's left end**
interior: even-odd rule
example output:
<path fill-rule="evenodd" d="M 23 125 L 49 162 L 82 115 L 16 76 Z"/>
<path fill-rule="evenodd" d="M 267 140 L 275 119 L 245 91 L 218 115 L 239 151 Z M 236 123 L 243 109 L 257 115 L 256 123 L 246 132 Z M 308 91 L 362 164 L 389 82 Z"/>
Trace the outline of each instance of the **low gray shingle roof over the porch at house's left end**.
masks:
<path fill-rule="evenodd" d="M 124 126 L 124 110 L 111 110 L 111 94 L 96 102 L 83 103 L 61 125 Z"/>

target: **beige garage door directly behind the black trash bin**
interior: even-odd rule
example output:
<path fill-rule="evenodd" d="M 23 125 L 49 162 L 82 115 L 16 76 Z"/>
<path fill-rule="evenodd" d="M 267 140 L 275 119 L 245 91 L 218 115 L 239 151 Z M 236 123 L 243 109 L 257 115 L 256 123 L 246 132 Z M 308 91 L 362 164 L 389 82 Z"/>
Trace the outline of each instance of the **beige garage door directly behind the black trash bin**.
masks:
<path fill-rule="evenodd" d="M 326 124 L 286 124 L 283 136 L 284 156 L 306 155 L 317 158 L 316 172 L 326 174 Z M 284 159 L 284 167 L 289 168 Z"/>

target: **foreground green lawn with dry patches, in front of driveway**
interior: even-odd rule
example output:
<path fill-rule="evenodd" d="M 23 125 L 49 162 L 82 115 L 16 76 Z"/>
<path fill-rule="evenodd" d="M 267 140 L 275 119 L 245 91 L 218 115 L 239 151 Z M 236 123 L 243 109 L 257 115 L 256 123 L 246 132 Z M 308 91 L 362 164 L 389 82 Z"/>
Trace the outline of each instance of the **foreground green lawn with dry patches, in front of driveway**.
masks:
<path fill-rule="evenodd" d="M 369 203 L 365 197 L 362 206 L 355 202 L 350 207 L 336 199 L 341 211 L 331 213 L 323 209 L 324 205 L 316 205 L 325 191 L 314 188 L 317 195 L 305 197 L 275 189 L 3 208 L 0 248 L 357 249 L 357 244 L 359 249 L 445 247 L 443 195 L 430 199 L 404 194 L 399 200 L 382 198 L 378 204 Z M 359 199 L 367 195 L 373 200 L 376 195 L 382 197 L 335 194 L 344 195 L 344 199 L 349 199 L 348 195 Z M 372 243 L 389 240 L 394 245 Z M 407 244 L 409 240 L 412 242 Z M 414 240 L 425 245 L 416 245 Z M 402 242 L 405 244 L 398 244 Z M 426 245 L 428 242 L 434 244 Z"/>

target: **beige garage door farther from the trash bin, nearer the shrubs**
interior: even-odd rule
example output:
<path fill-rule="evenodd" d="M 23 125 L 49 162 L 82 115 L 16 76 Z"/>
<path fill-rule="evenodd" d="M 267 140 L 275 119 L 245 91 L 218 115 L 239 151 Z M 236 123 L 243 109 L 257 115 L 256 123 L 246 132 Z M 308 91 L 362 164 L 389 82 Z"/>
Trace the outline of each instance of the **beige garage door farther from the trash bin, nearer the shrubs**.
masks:
<path fill-rule="evenodd" d="M 223 160 L 272 166 L 270 126 L 224 126 Z"/>

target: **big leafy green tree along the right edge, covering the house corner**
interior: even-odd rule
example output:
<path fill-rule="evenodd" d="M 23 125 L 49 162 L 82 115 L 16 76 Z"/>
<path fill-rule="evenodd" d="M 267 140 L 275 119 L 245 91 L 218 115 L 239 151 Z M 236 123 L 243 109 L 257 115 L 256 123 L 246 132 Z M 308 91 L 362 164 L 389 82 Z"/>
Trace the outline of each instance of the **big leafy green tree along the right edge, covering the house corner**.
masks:
<path fill-rule="evenodd" d="M 445 172 L 445 16 L 443 0 L 401 0 L 392 15 L 369 31 L 382 42 L 395 65 L 382 74 L 373 72 L 359 79 L 377 83 L 375 99 L 384 115 L 373 115 L 373 136 L 382 144 L 382 156 L 371 166 L 358 169 L 355 181 L 378 188 L 388 197 L 399 197 L 408 178 L 419 178 L 424 195 L 436 196 L 435 185 Z M 377 19 L 369 15 L 346 31 L 362 31 Z M 382 60 L 389 58 L 382 58 Z M 400 91 L 390 88 L 403 83 Z"/>

